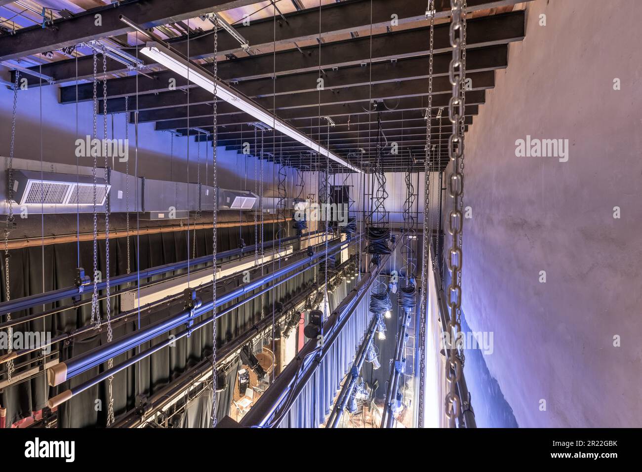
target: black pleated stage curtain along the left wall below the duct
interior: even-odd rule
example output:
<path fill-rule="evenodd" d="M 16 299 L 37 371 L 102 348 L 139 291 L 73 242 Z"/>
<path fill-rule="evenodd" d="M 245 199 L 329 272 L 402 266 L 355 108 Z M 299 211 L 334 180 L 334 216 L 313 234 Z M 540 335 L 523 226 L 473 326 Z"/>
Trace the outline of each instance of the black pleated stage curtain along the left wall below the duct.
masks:
<path fill-rule="evenodd" d="M 265 239 L 272 238 L 275 228 L 273 225 L 265 225 Z M 194 238 L 196 239 L 196 257 L 211 254 L 212 230 L 202 229 L 189 231 L 189 240 L 187 231 L 175 231 L 159 234 L 149 234 L 130 237 L 130 265 L 132 272 L 138 267 L 141 270 L 146 268 L 164 265 L 187 259 L 187 254 L 191 256 L 193 250 Z M 221 228 L 218 230 L 217 241 L 218 251 L 236 249 L 239 246 L 240 238 L 243 238 L 247 245 L 254 244 L 254 228 L 251 226 L 236 228 Z M 91 276 L 93 266 L 93 247 L 92 241 L 77 243 L 64 243 L 58 245 L 48 245 L 44 247 L 33 247 L 26 249 L 17 249 L 10 251 L 10 290 L 12 299 L 42 293 L 44 291 L 55 290 L 73 286 L 75 277 L 75 268 L 84 267 L 88 275 Z M 98 241 L 98 270 L 103 271 L 105 277 L 105 241 Z M 44 265 L 43 265 L 44 263 Z M 4 253 L 0 254 L 0 264 L 4 267 Z M 126 238 L 116 238 L 110 240 L 110 275 L 126 273 Z M 198 268 L 192 268 L 197 270 Z M 187 272 L 186 270 L 177 270 L 173 274 L 179 275 Z M 267 272 L 267 271 L 266 271 Z M 299 293 L 304 286 L 311 283 L 312 270 L 294 277 L 288 283 L 284 283 L 265 294 L 266 316 L 272 316 L 272 304 L 274 301 L 284 301 L 295 293 Z M 151 280 L 157 280 L 162 276 L 152 277 Z M 6 283 L 5 274 L 2 273 L 3 287 Z M 141 283 L 143 281 L 141 280 Z M 236 285 L 242 281 L 236 281 Z M 234 283 L 233 283 L 234 284 Z M 217 292 L 227 292 L 231 287 L 218 285 Z M 123 288 L 121 286 L 121 288 Z M 114 288 L 112 288 L 112 293 Z M 91 285 L 87 287 L 82 295 L 82 301 L 91 301 Z M 209 291 L 211 296 L 211 290 Z M 207 297 L 207 293 L 202 297 Z M 2 290 L 1 300 L 4 301 L 5 295 Z M 49 310 L 55 306 L 69 304 L 69 299 L 56 304 L 39 306 L 37 309 L 25 310 L 19 313 L 12 313 L 12 318 L 17 319 L 39 311 Z M 231 302 L 233 303 L 233 302 Z M 230 303 L 230 304 L 231 304 Z M 107 306 L 105 301 L 101 304 L 101 317 L 106 318 Z M 119 297 L 112 298 L 111 305 L 112 316 L 119 313 Z M 143 313 L 141 311 L 140 320 L 128 319 L 124 322 L 114 324 L 114 339 L 117 339 L 126 333 L 134 331 L 137 325 L 146 326 L 153 322 L 167 317 L 170 313 L 180 310 L 180 306 L 169 306 L 166 310 L 156 311 L 154 313 Z M 251 328 L 259 319 L 261 313 L 261 297 L 250 301 L 237 310 L 218 319 L 217 323 L 217 344 L 221 346 L 229 342 L 239 334 Z M 6 317 L 3 317 L 3 320 Z M 15 326 L 16 331 L 45 331 L 51 333 L 51 337 L 62 335 L 74 329 L 81 328 L 90 323 L 91 304 L 85 304 L 78 308 L 71 308 L 56 315 L 48 316 L 43 319 L 35 320 Z M 181 331 L 182 328 L 176 329 L 170 334 Z M 157 344 L 160 340 L 166 339 L 167 335 L 159 337 L 152 342 L 141 346 L 141 350 L 150 345 Z M 107 328 L 103 326 L 100 331 L 90 331 L 85 335 L 76 336 L 69 343 L 58 343 L 52 347 L 52 353 L 59 351 L 60 360 L 66 360 L 77 356 L 93 347 L 107 342 Z M 195 331 L 190 337 L 177 340 L 175 347 L 166 347 L 159 352 L 145 358 L 142 362 L 128 367 L 114 376 L 114 411 L 116 418 L 131 410 L 135 406 L 135 400 L 138 395 L 148 396 L 157 391 L 160 387 L 166 385 L 169 381 L 174 380 L 189 367 L 211 354 L 212 351 L 212 327 L 207 327 Z M 117 365 L 136 351 L 121 354 L 114 359 L 114 365 Z M 0 351 L 4 354 L 4 351 Z M 30 367 L 37 365 L 39 362 L 39 353 L 33 353 L 30 356 L 22 356 L 17 360 L 16 365 L 23 362 L 31 362 Z M 106 365 L 96 367 L 91 371 L 84 372 L 73 379 L 59 385 L 58 387 L 48 387 L 46 376 L 40 374 L 30 380 L 22 381 L 17 385 L 3 390 L 0 393 L 0 403 L 7 408 L 6 426 L 10 426 L 19 419 L 31 416 L 32 412 L 42 409 L 50 396 L 63 390 L 75 387 L 81 383 L 90 380 L 96 374 L 103 371 Z M 236 372 L 230 374 L 236 376 Z M 0 365 L 0 377 L 6 378 L 6 364 Z M 229 384 L 234 385 L 233 382 Z M 107 423 L 107 381 L 91 387 L 84 392 L 74 396 L 58 408 L 58 427 L 102 427 Z M 221 399 L 227 399 L 230 394 L 221 395 Z M 228 413 L 229 401 L 221 401 L 221 412 L 219 417 Z"/>

